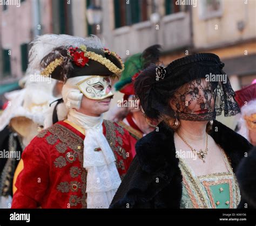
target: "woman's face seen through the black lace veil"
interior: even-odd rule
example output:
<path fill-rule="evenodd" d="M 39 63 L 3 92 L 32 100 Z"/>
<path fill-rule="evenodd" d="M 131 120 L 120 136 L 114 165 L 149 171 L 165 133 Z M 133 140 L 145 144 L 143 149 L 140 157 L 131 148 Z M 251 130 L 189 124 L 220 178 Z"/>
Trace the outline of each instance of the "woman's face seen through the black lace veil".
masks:
<path fill-rule="evenodd" d="M 185 114 L 207 114 L 214 110 L 214 93 L 205 79 L 193 80 L 180 87 L 170 101 L 172 109 Z"/>

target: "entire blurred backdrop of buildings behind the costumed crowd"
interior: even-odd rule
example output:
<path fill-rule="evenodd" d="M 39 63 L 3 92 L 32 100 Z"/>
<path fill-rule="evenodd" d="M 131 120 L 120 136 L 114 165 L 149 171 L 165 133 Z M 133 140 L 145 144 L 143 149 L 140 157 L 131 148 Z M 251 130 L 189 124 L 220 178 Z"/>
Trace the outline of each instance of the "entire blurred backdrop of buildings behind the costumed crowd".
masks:
<path fill-rule="evenodd" d="M 250 84 L 256 77 L 256 1 L 177 2 L 184 1 L 23 0 L 19 8 L 1 6 L 1 88 L 24 75 L 28 44 L 45 33 L 97 34 L 124 60 L 158 43 L 163 46 L 165 65 L 187 54 L 212 52 L 225 62 L 235 90 Z M 91 5 L 101 8 L 99 24 L 87 21 Z"/>

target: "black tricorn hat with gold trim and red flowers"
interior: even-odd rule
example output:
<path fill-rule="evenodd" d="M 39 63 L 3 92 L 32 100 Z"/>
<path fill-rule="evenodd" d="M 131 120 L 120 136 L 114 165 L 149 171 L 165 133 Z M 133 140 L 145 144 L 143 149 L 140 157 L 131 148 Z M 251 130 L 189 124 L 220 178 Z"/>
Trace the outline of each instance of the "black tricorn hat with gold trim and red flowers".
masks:
<path fill-rule="evenodd" d="M 83 75 L 120 75 L 124 64 L 120 57 L 107 48 L 59 46 L 41 61 L 41 75 L 66 81 Z"/>

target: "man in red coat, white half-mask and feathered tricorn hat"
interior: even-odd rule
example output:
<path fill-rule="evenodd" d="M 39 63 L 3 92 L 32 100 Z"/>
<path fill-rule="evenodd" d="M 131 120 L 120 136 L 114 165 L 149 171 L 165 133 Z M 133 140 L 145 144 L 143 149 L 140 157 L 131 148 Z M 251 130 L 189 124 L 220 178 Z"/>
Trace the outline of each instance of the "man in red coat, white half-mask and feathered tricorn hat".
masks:
<path fill-rule="evenodd" d="M 132 160 L 129 132 L 103 120 L 123 62 L 96 37 L 51 34 L 33 42 L 30 57 L 48 40 L 41 75 L 64 82 L 63 100 L 24 150 L 12 208 L 108 208 Z"/>

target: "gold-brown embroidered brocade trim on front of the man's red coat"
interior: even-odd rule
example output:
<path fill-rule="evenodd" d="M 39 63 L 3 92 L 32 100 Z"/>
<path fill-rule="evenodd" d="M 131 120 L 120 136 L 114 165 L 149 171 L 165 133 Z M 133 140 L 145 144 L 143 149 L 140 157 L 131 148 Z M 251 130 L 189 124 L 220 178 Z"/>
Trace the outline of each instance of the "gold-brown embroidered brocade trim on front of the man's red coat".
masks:
<path fill-rule="evenodd" d="M 110 147 L 114 153 L 114 156 L 117 159 L 117 155 L 122 156 L 123 159 L 126 159 L 126 151 L 123 149 L 123 140 L 120 137 L 117 137 L 116 131 L 118 131 L 121 135 L 124 135 L 124 130 L 121 126 L 114 124 L 111 121 L 105 121 L 104 125 L 106 127 L 106 139 L 110 144 Z M 50 132 L 51 134 L 47 137 L 46 134 Z M 86 178 L 87 172 L 83 167 L 83 150 L 84 150 L 84 140 L 76 135 L 76 133 L 72 132 L 70 129 L 66 128 L 61 124 L 54 124 L 50 128 L 43 130 L 41 133 L 37 135 L 39 138 L 45 138 L 46 142 L 50 145 L 55 145 L 56 150 L 59 152 L 59 156 L 54 161 L 54 165 L 57 168 L 62 168 L 65 166 L 70 167 L 70 176 L 73 179 L 77 179 L 78 176 L 81 177 L 82 183 L 78 181 L 62 181 L 57 185 L 57 190 L 60 192 L 68 193 L 68 192 L 77 192 L 77 190 L 81 190 L 82 197 L 77 195 L 70 195 L 70 206 L 77 206 L 78 204 L 82 204 L 82 208 L 87 207 L 86 199 Z M 60 140 L 58 143 L 57 140 Z M 71 150 L 69 150 L 71 149 Z M 69 150 L 69 151 L 68 151 Z M 76 159 L 79 160 L 80 167 L 72 166 L 70 164 L 73 163 Z M 122 159 L 116 161 L 117 169 L 125 169 L 125 164 Z M 122 179 L 124 175 L 120 175 Z"/>

